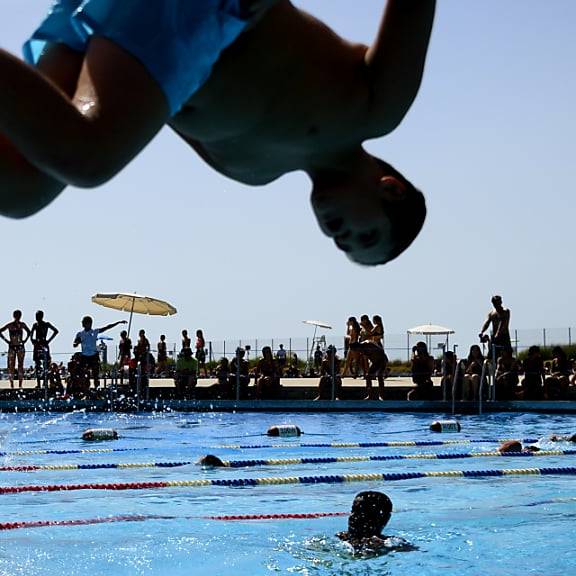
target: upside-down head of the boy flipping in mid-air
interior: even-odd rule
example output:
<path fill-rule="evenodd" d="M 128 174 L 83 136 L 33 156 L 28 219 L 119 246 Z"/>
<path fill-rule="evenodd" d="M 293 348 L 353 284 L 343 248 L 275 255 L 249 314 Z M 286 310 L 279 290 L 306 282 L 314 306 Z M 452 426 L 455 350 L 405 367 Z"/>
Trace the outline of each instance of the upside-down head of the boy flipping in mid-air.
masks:
<path fill-rule="evenodd" d="M 374 266 L 393 260 L 424 224 L 422 193 L 392 166 L 365 152 L 312 177 L 320 228 L 353 262 Z"/>

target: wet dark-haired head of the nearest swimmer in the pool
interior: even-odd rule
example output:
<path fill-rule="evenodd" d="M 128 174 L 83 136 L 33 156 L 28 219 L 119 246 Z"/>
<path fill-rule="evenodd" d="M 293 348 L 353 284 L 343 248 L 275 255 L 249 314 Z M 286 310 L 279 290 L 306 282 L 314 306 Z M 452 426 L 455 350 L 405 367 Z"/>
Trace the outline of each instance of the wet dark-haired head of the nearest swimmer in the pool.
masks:
<path fill-rule="evenodd" d="M 353 539 L 380 536 L 392 515 L 392 501 L 376 491 L 360 492 L 348 517 L 348 536 Z"/>

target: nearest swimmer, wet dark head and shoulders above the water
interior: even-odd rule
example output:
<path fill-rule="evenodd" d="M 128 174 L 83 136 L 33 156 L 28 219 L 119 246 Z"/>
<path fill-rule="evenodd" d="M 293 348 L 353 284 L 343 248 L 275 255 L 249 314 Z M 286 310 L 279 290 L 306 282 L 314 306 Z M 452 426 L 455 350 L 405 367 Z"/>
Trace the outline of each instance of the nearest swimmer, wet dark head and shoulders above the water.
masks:
<path fill-rule="evenodd" d="M 392 501 L 376 491 L 360 492 L 354 498 L 348 517 L 348 530 L 336 534 L 348 542 L 356 554 L 415 550 L 406 540 L 384 536 L 382 530 L 392 515 Z"/>

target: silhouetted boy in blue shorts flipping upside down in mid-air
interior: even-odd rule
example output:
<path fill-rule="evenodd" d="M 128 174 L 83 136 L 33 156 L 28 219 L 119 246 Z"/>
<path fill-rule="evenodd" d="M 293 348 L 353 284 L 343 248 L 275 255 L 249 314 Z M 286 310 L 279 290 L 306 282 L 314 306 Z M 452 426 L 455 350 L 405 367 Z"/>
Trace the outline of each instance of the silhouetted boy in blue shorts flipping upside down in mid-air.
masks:
<path fill-rule="evenodd" d="M 424 198 L 362 143 L 416 97 L 435 3 L 388 0 L 366 47 L 289 0 L 58 0 L 28 64 L 0 51 L 0 212 L 103 184 L 168 124 L 238 182 L 306 172 L 323 232 L 355 262 L 387 262 Z"/>

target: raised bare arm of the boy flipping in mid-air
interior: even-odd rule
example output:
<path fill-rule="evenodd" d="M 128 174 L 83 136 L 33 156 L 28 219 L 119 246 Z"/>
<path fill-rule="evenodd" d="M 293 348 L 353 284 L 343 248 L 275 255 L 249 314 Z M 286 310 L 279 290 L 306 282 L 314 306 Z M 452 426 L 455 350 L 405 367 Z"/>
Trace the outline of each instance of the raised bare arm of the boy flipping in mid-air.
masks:
<path fill-rule="evenodd" d="M 435 8 L 436 0 L 388 0 L 366 53 L 371 112 L 387 131 L 400 124 L 420 88 Z"/>

